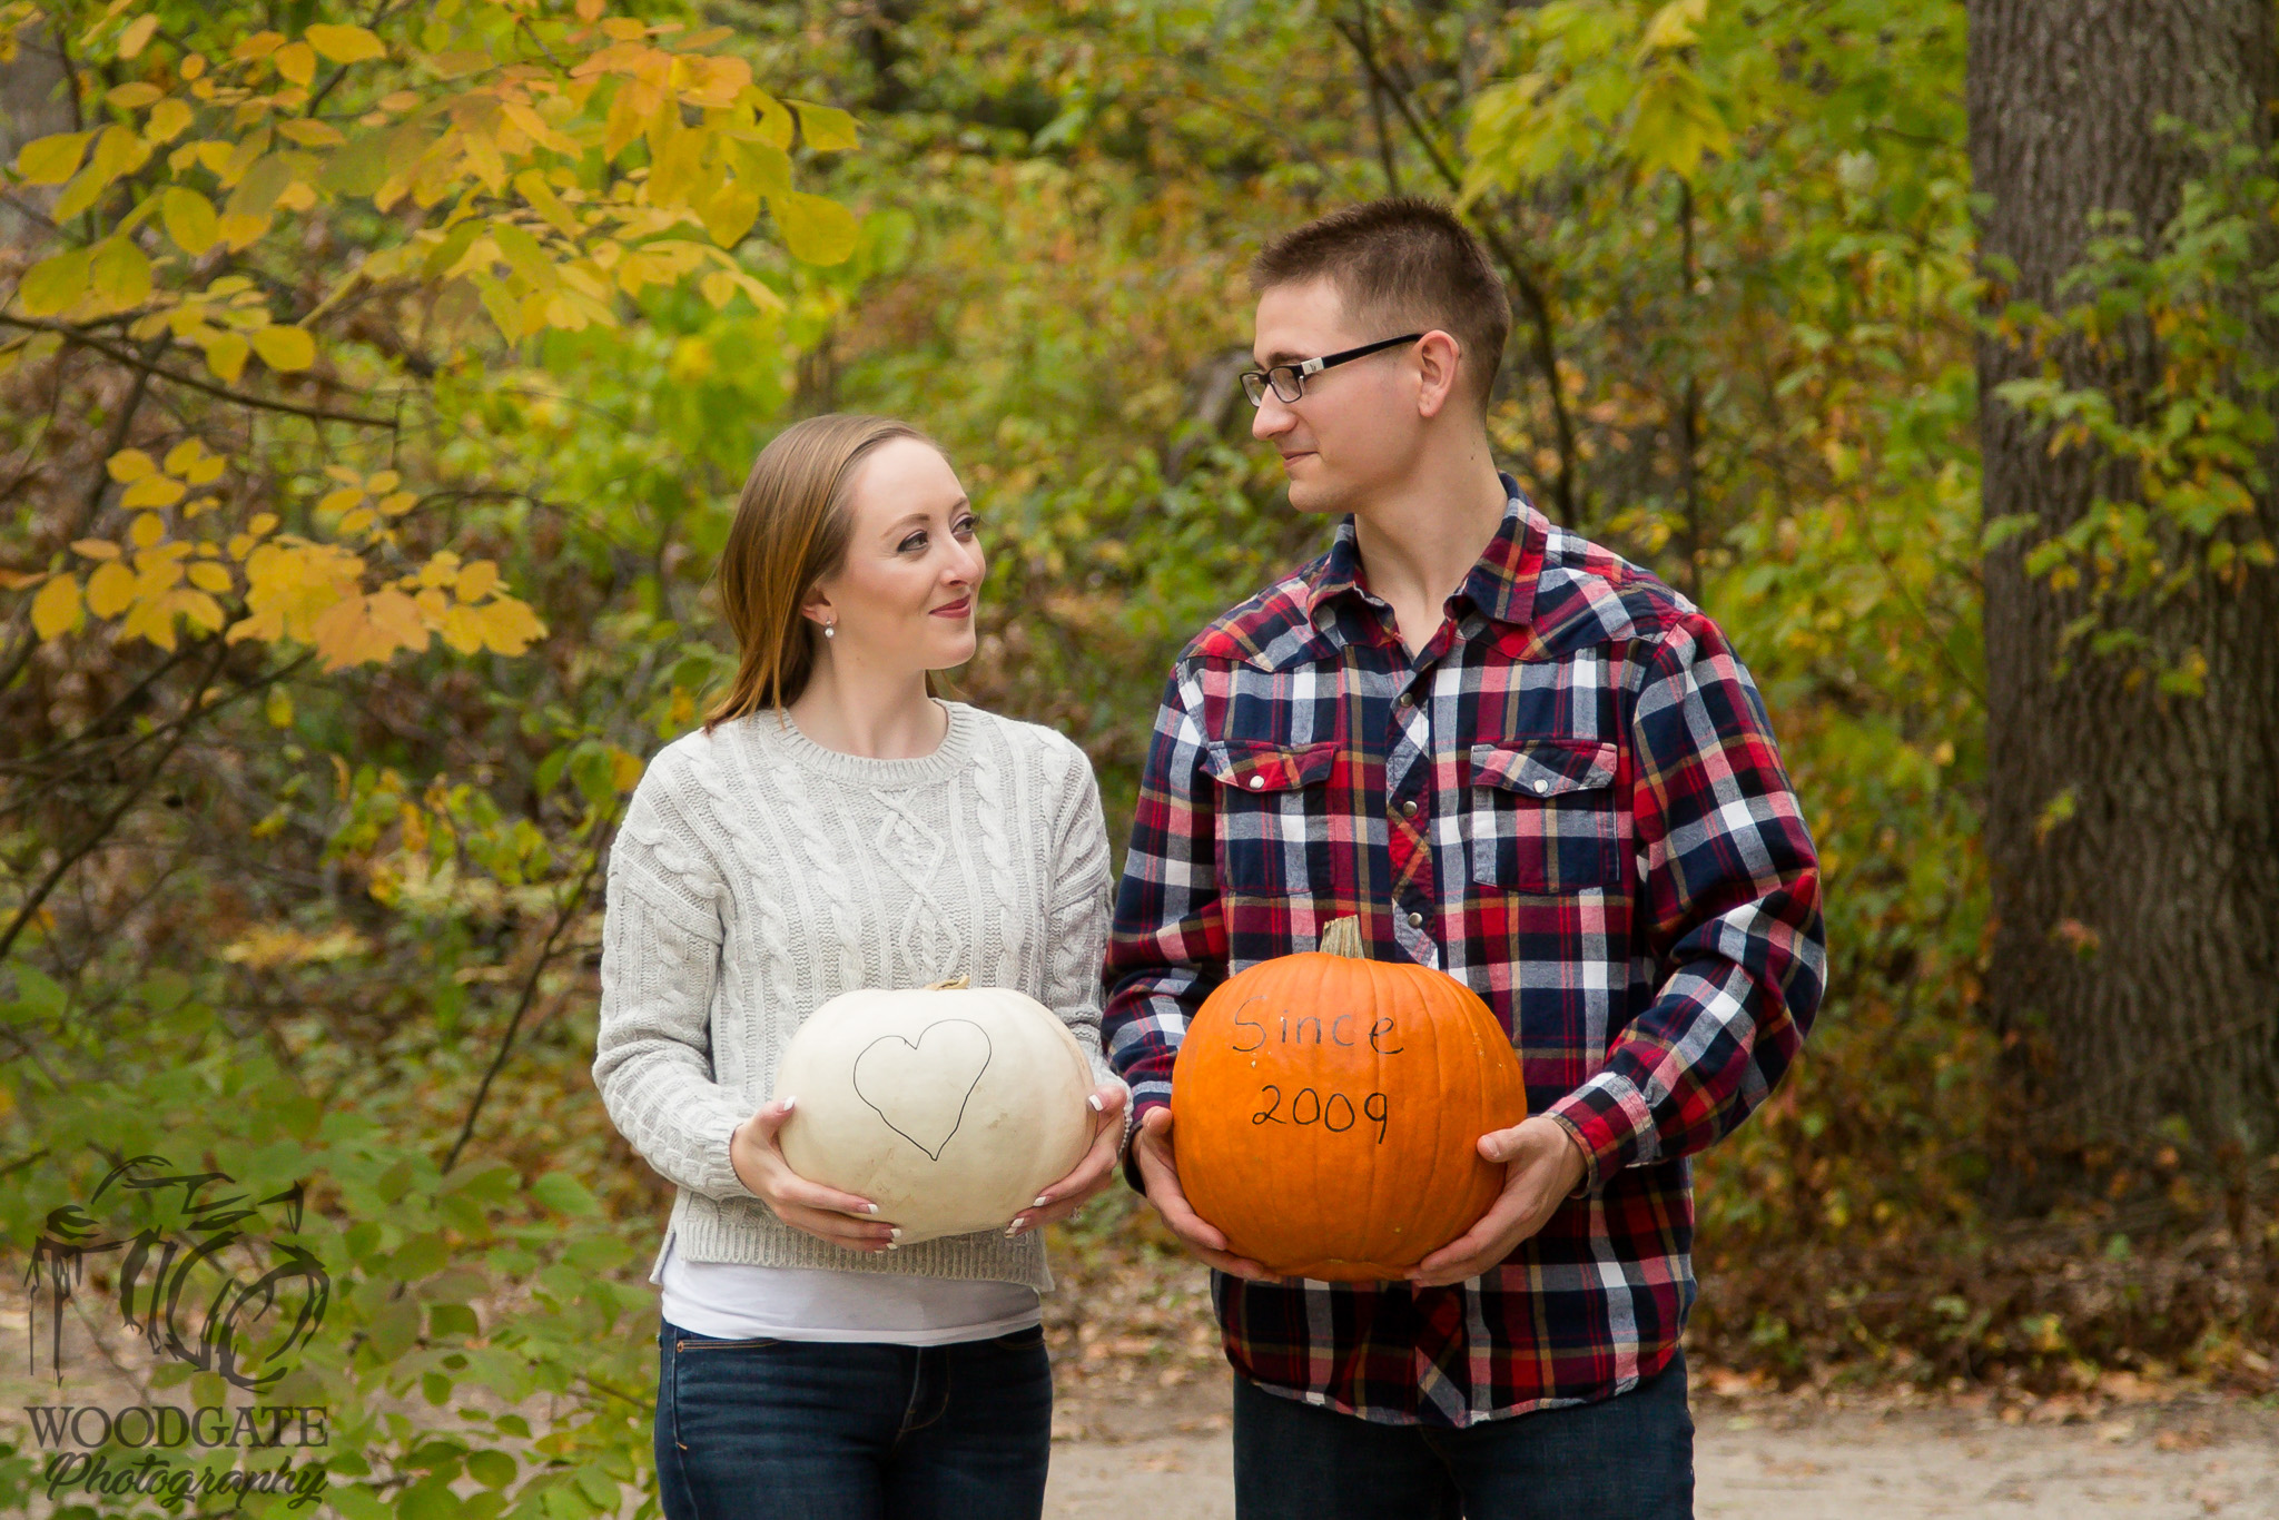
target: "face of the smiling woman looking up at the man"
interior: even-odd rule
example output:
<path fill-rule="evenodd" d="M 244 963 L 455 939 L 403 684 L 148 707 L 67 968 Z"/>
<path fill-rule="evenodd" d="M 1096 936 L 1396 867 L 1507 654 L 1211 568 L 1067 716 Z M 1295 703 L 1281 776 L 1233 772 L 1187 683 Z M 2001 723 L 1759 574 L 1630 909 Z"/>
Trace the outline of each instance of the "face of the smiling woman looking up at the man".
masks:
<path fill-rule="evenodd" d="M 880 444 L 855 467 L 848 515 L 846 563 L 807 604 L 834 624 L 832 661 L 891 672 L 973 659 L 987 563 L 950 463 L 916 438 Z"/>

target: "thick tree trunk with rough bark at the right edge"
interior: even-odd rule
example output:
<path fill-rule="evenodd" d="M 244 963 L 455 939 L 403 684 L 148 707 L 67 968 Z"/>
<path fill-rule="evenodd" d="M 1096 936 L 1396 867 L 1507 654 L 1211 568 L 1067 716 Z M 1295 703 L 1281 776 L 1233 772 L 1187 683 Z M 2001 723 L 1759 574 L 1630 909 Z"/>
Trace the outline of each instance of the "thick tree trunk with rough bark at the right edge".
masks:
<path fill-rule="evenodd" d="M 2003 299 L 2058 310 L 2090 212 L 2119 207 L 2151 239 L 2202 160 L 2154 130 L 2160 114 L 2245 123 L 2270 146 L 2279 36 L 2270 0 L 1969 0 L 1969 146 L 1990 196 L 1980 262 Z M 2015 262 L 2001 278 L 1992 258 Z M 2272 333 L 2258 328 L 2272 362 Z M 2099 353 L 2060 351 L 2067 385 L 2129 415 L 2160 381 L 2140 326 Z M 1985 515 L 2037 529 L 1985 556 L 1987 864 L 1994 891 L 1990 1016 L 2006 1041 L 2012 1112 L 2040 1162 L 1996 1185 L 2010 1208 L 2088 1142 L 2149 1137 L 2183 1117 L 2206 1153 L 2279 1142 L 2279 574 L 2224 586 L 2202 574 L 2165 608 L 2122 620 L 2165 649 L 2197 647 L 2204 695 L 2129 679 L 2060 629 L 2088 588 L 2026 577 L 2037 538 L 2097 497 L 2135 499 L 2135 476 L 2088 449 L 2049 453 L 2042 424 L 1994 399 L 2033 358 L 1985 335 L 1978 415 Z M 2279 460 L 2265 469 L 2279 481 Z M 2274 488 L 2254 533 L 2279 536 Z M 2197 545 L 2176 536 L 2165 558 Z M 2072 811 L 2051 802 L 2072 793 Z M 2238 1151 L 2231 1151 L 2238 1155 Z M 2037 1174 L 2037 1176 L 2035 1176 Z"/>

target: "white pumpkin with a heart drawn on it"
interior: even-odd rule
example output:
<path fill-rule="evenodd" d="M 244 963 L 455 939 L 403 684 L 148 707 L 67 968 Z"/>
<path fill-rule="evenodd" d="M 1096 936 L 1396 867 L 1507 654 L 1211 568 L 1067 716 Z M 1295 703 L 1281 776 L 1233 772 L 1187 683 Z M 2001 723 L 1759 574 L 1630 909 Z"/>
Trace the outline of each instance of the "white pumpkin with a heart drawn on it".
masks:
<path fill-rule="evenodd" d="M 902 1244 L 1003 1231 L 1092 1144 L 1092 1067 L 1053 1010 L 966 978 L 846 991 L 777 1062 L 800 1176 L 877 1203 Z"/>

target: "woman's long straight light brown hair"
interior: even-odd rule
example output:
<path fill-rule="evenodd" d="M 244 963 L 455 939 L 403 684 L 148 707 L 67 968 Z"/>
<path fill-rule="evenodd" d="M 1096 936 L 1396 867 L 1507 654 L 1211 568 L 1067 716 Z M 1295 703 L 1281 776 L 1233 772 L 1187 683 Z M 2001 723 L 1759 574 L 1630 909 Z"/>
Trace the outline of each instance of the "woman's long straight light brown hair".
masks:
<path fill-rule="evenodd" d="M 704 713 L 704 732 L 761 706 L 784 709 L 816 670 L 816 631 L 800 615 L 816 581 L 846 563 L 855 467 L 884 442 L 932 438 L 893 417 L 825 412 L 777 433 L 743 481 L 736 520 L 720 547 L 720 613 L 736 636 L 736 681 Z M 925 695 L 939 697 L 934 672 Z"/>

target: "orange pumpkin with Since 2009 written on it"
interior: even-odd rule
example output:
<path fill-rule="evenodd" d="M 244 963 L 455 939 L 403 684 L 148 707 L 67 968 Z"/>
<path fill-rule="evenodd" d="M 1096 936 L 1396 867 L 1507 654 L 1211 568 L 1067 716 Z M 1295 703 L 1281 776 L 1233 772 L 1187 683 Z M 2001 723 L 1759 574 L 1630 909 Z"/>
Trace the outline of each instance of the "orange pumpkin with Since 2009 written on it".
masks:
<path fill-rule="evenodd" d="M 1283 1276 L 1399 1278 L 1504 1190 L 1488 1130 L 1527 1117 L 1520 1057 L 1479 996 L 1377 962 L 1361 921 L 1231 975 L 1171 1064 L 1181 1190 Z"/>

